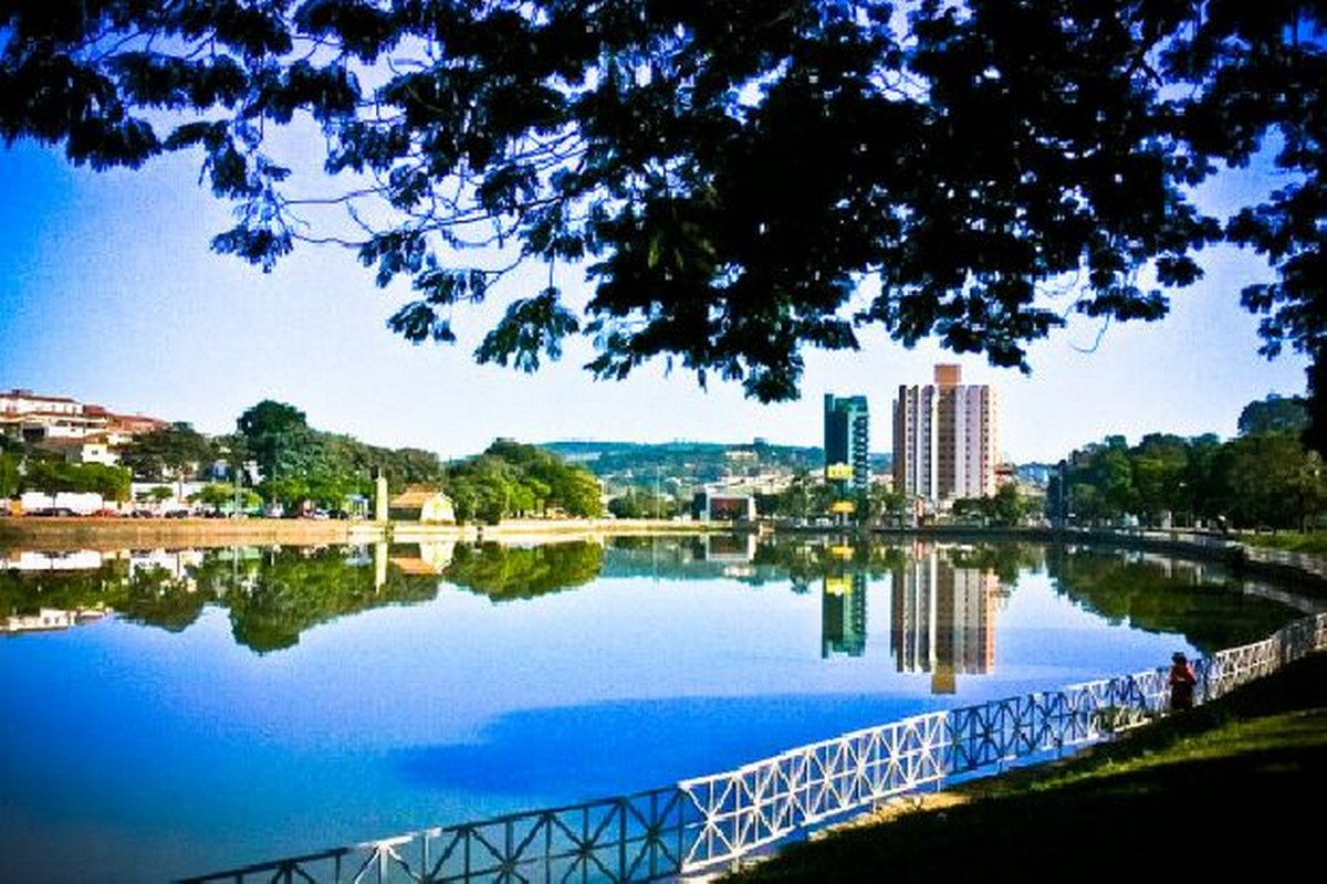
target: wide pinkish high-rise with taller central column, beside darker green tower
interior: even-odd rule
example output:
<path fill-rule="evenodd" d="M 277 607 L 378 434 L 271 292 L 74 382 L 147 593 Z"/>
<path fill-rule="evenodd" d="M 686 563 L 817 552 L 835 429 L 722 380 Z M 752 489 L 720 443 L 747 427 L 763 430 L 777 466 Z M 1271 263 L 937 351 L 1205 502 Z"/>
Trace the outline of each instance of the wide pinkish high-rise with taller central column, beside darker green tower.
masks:
<path fill-rule="evenodd" d="M 995 391 L 962 383 L 959 366 L 936 366 L 934 383 L 898 387 L 894 400 L 894 489 L 945 504 L 995 493 Z"/>

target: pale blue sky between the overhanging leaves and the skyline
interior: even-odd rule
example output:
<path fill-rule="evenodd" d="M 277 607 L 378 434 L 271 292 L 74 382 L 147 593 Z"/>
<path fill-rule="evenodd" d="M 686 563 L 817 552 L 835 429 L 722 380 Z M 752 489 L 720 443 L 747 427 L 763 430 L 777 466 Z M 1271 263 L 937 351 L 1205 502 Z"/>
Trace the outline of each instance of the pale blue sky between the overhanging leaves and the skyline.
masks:
<path fill-rule="evenodd" d="M 1267 180 L 1245 174 L 1209 188 L 1225 203 Z M 872 448 L 890 448 L 898 384 L 926 383 L 957 362 L 967 383 L 1001 396 L 1001 449 L 1015 463 L 1058 460 L 1111 433 L 1235 432 L 1241 408 L 1304 391 L 1304 360 L 1257 354 L 1257 318 L 1239 288 L 1266 276 L 1255 256 L 1208 256 L 1208 277 L 1172 298 L 1158 323 L 1075 322 L 1030 353 L 1032 375 L 936 346 L 906 350 L 880 333 L 859 353 L 807 353 L 803 398 L 760 406 L 736 384 L 666 375 L 596 382 L 580 366 L 588 342 L 525 375 L 474 364 L 492 319 L 459 313 L 456 346 L 413 346 L 385 326 L 409 294 L 381 290 L 353 254 L 304 248 L 263 274 L 210 252 L 230 208 L 199 184 L 196 158 L 138 172 L 92 172 L 32 143 L 0 147 L 0 388 L 72 396 L 114 411 L 184 420 L 210 433 L 263 399 L 309 424 L 445 457 L 498 436 L 658 443 L 698 440 L 819 445 L 827 392 L 865 395 Z M 568 270 L 563 285 L 576 284 Z M 1095 350 L 1093 343 L 1096 343 Z"/>

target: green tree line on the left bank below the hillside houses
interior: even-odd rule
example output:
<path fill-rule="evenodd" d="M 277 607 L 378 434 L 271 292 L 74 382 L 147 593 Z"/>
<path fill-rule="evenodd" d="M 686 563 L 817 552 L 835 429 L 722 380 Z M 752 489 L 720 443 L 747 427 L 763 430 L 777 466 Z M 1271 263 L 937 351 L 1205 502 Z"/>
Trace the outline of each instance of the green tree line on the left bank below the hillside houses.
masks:
<path fill-rule="evenodd" d="M 23 492 L 94 492 L 129 502 L 133 482 L 158 482 L 141 502 L 169 500 L 170 485 L 203 480 L 191 502 L 212 510 L 301 513 L 345 510 L 369 501 L 376 480 L 389 494 L 409 485 L 449 493 L 456 517 L 496 522 L 510 516 L 596 517 L 600 486 L 592 473 L 533 445 L 498 440 L 475 457 L 443 463 L 419 448 L 385 448 L 308 424 L 288 403 L 264 400 L 244 411 L 235 432 L 208 436 L 173 423 L 135 436 L 119 464 L 68 464 L 54 452 L 0 439 L 0 497 Z"/>

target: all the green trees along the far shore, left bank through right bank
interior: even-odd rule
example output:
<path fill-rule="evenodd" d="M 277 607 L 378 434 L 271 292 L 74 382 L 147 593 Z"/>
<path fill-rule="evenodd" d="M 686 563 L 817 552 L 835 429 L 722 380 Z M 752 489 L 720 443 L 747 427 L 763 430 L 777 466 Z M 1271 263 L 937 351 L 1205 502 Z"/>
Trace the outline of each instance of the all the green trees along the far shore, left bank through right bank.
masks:
<path fill-rule="evenodd" d="M 1302 443 L 1308 417 L 1299 398 L 1271 395 L 1243 408 L 1238 436 L 1181 437 L 1149 433 L 1137 444 L 1107 436 L 1062 461 L 1051 476 L 1044 516 L 1084 525 L 1220 526 L 1304 529 L 1327 504 L 1327 473 L 1316 451 Z M 559 455 L 499 439 L 483 453 L 454 463 L 418 448 L 382 448 L 308 425 L 299 408 L 264 400 L 236 420 L 234 433 L 207 436 L 174 423 L 127 443 L 121 465 L 68 464 L 58 455 L 0 437 L 0 497 L 25 490 L 94 492 L 127 501 L 131 481 L 161 482 L 159 500 L 179 480 L 212 480 L 194 502 L 230 510 L 239 490 L 243 509 L 342 510 L 368 501 L 378 474 L 389 493 L 423 484 L 446 492 L 460 521 L 495 524 L 511 517 L 602 514 L 600 478 Z M 649 470 L 645 470 L 649 472 Z M 236 478 L 239 481 L 236 481 Z M 618 518 L 673 518 L 689 501 L 662 472 L 608 501 Z M 759 494 L 762 516 L 817 520 L 831 513 L 837 492 L 816 472 L 796 468 L 788 486 Z M 1038 497 L 1006 484 L 987 498 L 954 504 L 957 518 L 986 525 L 1020 525 L 1042 513 Z M 905 524 L 910 501 L 873 484 L 851 521 Z"/>

